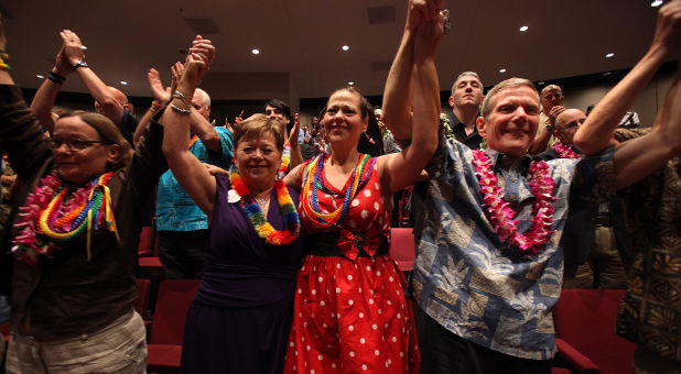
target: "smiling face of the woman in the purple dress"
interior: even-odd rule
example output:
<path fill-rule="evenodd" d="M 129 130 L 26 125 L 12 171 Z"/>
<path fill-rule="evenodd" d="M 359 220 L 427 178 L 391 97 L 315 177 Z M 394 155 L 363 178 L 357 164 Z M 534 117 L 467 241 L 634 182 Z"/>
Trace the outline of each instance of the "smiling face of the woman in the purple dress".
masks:
<path fill-rule="evenodd" d="M 234 155 L 235 165 L 246 186 L 268 187 L 274 183 L 274 175 L 281 164 L 281 151 L 271 131 L 259 136 L 239 140 Z"/>

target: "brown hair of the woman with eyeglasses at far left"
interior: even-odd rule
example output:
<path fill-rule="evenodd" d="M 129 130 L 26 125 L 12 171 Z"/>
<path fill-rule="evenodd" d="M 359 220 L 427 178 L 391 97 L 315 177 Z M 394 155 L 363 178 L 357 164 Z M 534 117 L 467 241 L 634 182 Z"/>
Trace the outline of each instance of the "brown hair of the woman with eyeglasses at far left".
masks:
<path fill-rule="evenodd" d="M 134 153 L 134 151 L 132 151 L 132 146 L 130 146 L 130 143 L 128 143 L 128 141 L 120 133 L 120 130 L 118 129 L 118 127 L 116 127 L 116 124 L 114 124 L 111 120 L 109 120 L 107 117 L 101 116 L 99 113 L 88 112 L 84 110 L 75 110 L 73 112 L 63 114 L 60 118 L 67 118 L 67 117 L 79 118 L 83 122 L 87 123 L 90 128 L 95 129 L 95 131 L 97 131 L 97 134 L 102 141 L 105 141 L 108 144 L 118 145 L 119 147 L 118 160 L 115 161 L 114 163 L 107 163 L 107 172 L 118 170 L 119 168 L 126 167 L 128 166 L 128 164 L 130 164 L 130 161 L 132 161 L 132 154 Z"/>

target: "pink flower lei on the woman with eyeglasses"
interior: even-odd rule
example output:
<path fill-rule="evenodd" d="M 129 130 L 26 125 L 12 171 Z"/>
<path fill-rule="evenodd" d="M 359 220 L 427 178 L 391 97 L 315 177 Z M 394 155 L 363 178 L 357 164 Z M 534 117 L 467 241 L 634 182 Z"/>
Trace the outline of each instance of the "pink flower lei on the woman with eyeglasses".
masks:
<path fill-rule="evenodd" d="M 45 255 L 52 257 L 56 245 L 47 238 L 40 234 L 37 220 L 47 206 L 64 185 L 62 178 L 56 173 L 51 173 L 41 179 L 33 194 L 26 197 L 26 202 L 19 208 L 18 220 L 14 228 L 19 233 L 12 241 L 12 252 L 20 261 L 29 265 L 37 263 L 39 256 Z M 73 198 L 64 207 L 64 211 L 72 211 L 87 200 L 91 186 L 80 187 L 73 193 Z"/>

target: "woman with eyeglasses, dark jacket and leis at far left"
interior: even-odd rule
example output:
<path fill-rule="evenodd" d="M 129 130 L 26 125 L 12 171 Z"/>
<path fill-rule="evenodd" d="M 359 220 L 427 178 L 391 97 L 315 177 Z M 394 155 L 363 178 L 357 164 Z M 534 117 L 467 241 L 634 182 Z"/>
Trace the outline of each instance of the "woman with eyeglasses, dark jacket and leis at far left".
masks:
<path fill-rule="evenodd" d="M 139 206 L 166 168 L 163 131 L 152 124 L 133 152 L 109 119 L 77 111 L 47 139 L 9 74 L 6 43 L 0 20 L 0 142 L 24 184 L 0 256 L 12 268 L 7 370 L 144 373 L 136 248 Z"/>

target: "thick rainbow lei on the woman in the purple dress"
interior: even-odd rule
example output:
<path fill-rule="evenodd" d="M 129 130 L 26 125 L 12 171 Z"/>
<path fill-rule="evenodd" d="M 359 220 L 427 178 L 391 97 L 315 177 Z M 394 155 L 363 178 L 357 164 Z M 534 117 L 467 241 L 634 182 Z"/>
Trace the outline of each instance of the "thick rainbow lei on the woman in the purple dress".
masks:
<path fill-rule="evenodd" d="M 244 212 L 248 216 L 248 219 L 260 238 L 272 245 L 288 245 L 295 241 L 300 232 L 300 220 L 298 219 L 298 211 L 293 205 L 293 199 L 291 199 L 291 195 L 289 195 L 289 190 L 283 180 L 278 179 L 274 182 L 277 201 L 279 201 L 279 207 L 283 213 L 284 224 L 287 227 L 283 231 L 274 230 L 272 224 L 267 221 L 267 217 L 264 217 L 253 195 L 248 187 L 246 187 L 235 165 L 231 165 L 229 168 L 229 183 L 233 189 L 227 195 L 228 201 L 239 201 L 241 209 L 244 209 Z M 238 197 L 235 196 L 235 194 L 237 194 Z"/>

